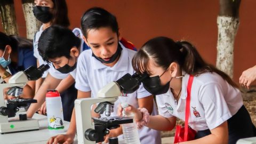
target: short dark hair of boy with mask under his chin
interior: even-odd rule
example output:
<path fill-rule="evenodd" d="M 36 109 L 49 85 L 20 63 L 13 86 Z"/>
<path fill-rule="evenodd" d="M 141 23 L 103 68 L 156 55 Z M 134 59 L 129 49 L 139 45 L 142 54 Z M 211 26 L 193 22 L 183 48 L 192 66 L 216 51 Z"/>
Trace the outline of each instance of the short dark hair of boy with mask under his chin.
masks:
<path fill-rule="evenodd" d="M 99 29 L 101 27 L 110 27 L 118 35 L 118 23 L 115 15 L 100 7 L 92 7 L 87 10 L 81 19 L 83 35 L 87 38 L 87 32 L 90 29 Z"/>

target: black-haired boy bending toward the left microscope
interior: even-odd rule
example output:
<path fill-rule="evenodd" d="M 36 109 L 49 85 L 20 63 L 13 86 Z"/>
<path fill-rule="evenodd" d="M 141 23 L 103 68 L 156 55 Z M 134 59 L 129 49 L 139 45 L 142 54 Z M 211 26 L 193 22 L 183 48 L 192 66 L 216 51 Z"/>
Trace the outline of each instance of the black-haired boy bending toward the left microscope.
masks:
<path fill-rule="evenodd" d="M 32 117 L 45 101 L 49 89 L 57 89 L 61 93 L 63 116 L 70 121 L 74 108 L 77 90 L 74 89 L 76 62 L 81 46 L 81 39 L 68 28 L 51 26 L 45 29 L 39 38 L 38 51 L 42 58 L 52 66 L 43 84 L 35 94 L 37 103 L 30 105 L 27 115 Z"/>

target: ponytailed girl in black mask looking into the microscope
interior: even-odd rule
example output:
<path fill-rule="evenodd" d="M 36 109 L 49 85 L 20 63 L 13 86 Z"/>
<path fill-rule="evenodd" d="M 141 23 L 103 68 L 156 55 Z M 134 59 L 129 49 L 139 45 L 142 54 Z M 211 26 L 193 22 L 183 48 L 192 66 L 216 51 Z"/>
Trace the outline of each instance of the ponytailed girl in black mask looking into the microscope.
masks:
<path fill-rule="evenodd" d="M 142 83 L 150 93 L 157 94 L 160 114 L 148 116 L 132 106 L 126 108 L 135 114 L 137 125 L 172 130 L 176 117 L 185 121 L 187 113 L 188 125 L 196 135 L 186 143 L 231 144 L 255 136 L 238 86 L 227 74 L 206 63 L 189 42 L 150 39 L 134 55 L 132 64 L 137 73 L 149 75 Z M 121 111 L 119 108 L 119 114 Z"/>

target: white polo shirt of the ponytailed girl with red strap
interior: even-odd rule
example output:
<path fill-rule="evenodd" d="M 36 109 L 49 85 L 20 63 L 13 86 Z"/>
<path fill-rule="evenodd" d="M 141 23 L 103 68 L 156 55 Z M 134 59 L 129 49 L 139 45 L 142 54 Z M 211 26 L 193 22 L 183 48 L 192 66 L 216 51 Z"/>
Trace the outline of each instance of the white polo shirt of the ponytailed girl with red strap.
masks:
<path fill-rule="evenodd" d="M 175 116 L 185 121 L 188 78 L 188 74 L 182 78 L 181 96 L 177 106 L 170 90 L 156 95 L 160 115 Z M 196 131 L 214 129 L 243 106 L 241 92 L 216 73 L 195 76 L 190 98 L 189 126 Z"/>

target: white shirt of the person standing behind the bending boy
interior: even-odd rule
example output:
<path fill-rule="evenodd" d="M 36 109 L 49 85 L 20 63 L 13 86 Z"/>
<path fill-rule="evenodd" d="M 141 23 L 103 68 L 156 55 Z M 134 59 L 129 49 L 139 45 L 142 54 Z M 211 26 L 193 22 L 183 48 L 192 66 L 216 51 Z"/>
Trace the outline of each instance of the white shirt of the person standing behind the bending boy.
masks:
<path fill-rule="evenodd" d="M 43 25 L 40 27 L 40 29 L 39 29 L 39 31 L 37 31 L 37 33 L 36 33 L 36 35 L 35 35 L 35 37 L 34 37 L 34 57 L 35 58 L 37 58 L 37 60 L 38 60 L 38 63 L 39 63 L 39 66 L 41 66 L 41 65 L 46 65 L 47 64 L 47 62 L 45 62 L 44 60 L 43 60 L 43 58 L 41 57 L 41 55 L 39 54 L 39 52 L 38 52 L 38 39 L 39 39 L 39 37 L 41 36 L 41 34 L 43 33 Z M 46 76 L 47 76 L 47 74 L 48 74 L 48 72 L 49 72 L 49 70 L 46 70 L 46 71 L 44 71 L 44 74 L 43 74 L 43 78 L 45 78 Z"/>

